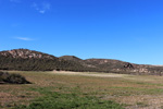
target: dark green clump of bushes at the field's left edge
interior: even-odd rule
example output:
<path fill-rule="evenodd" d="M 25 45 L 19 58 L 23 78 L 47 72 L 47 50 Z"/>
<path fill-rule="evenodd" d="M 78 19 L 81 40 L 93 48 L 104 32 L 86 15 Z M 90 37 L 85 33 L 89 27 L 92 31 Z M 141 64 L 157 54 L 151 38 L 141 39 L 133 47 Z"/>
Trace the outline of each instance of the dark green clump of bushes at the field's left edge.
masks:
<path fill-rule="evenodd" d="M 0 72 L 0 83 L 30 84 L 30 82 L 21 74 L 10 74 L 8 72 Z"/>

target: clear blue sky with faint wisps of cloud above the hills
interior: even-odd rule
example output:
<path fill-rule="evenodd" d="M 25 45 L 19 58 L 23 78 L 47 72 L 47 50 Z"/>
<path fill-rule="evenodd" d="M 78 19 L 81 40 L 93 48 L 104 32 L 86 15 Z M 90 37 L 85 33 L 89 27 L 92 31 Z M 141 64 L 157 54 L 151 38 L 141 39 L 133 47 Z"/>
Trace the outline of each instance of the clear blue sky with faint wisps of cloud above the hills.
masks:
<path fill-rule="evenodd" d="M 162 0 L 0 0 L 0 50 L 163 64 Z"/>

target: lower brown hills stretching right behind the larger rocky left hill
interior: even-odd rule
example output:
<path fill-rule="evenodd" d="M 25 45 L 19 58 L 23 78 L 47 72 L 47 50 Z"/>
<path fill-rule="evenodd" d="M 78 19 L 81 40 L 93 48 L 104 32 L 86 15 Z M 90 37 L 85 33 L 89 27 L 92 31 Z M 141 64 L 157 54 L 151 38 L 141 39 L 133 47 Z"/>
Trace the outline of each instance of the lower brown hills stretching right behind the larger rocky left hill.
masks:
<path fill-rule="evenodd" d="M 86 59 L 82 60 L 75 56 L 60 57 L 63 60 L 74 61 L 83 64 L 90 71 L 113 72 L 113 73 L 129 73 L 129 74 L 156 74 L 162 75 L 163 66 L 149 64 L 135 64 L 113 59 Z"/>

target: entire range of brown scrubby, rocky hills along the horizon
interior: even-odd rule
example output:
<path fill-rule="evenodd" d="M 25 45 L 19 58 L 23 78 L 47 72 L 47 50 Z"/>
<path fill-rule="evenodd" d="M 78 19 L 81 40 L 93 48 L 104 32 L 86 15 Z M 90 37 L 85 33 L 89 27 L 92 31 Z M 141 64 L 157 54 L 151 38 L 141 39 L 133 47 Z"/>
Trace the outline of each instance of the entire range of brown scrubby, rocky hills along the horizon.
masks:
<path fill-rule="evenodd" d="M 75 56 L 54 57 L 28 49 L 0 51 L 0 70 L 78 71 L 162 75 L 163 66 L 134 64 L 112 59 L 79 59 Z"/>

